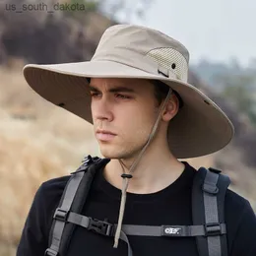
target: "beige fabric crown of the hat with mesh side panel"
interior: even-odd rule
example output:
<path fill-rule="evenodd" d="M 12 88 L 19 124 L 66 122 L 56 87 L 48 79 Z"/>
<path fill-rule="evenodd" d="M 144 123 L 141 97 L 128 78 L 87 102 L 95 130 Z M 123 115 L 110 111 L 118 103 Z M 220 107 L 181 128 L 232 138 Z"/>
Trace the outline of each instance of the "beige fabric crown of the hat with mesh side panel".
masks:
<path fill-rule="evenodd" d="M 103 32 L 92 61 L 107 60 L 187 82 L 189 52 L 172 37 L 154 29 L 114 25 Z"/>

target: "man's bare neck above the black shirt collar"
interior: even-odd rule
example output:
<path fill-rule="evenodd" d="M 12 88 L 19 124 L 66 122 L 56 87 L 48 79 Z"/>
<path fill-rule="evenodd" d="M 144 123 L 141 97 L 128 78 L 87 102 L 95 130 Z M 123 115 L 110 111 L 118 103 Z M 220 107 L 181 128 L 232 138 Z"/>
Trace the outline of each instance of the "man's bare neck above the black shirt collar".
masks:
<path fill-rule="evenodd" d="M 132 160 L 123 160 L 130 167 Z M 176 160 L 169 151 L 147 152 L 139 161 L 132 173 L 127 192 L 135 194 L 150 194 L 160 191 L 173 183 L 183 172 L 185 166 Z M 128 172 L 128 168 L 125 168 Z M 113 186 L 121 189 L 123 173 L 119 160 L 110 160 L 103 171 L 105 179 Z"/>

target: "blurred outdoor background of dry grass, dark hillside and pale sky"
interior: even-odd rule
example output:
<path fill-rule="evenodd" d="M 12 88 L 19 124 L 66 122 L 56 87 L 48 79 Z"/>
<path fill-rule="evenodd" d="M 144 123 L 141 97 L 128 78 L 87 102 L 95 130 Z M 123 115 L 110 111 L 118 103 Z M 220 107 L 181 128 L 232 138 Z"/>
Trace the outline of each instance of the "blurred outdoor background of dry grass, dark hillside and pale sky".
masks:
<path fill-rule="evenodd" d="M 223 108 L 235 137 L 188 161 L 223 169 L 256 211 L 255 11 L 253 0 L 0 0 L 0 256 L 15 255 L 43 181 L 100 157 L 92 127 L 37 96 L 22 68 L 89 60 L 102 32 L 119 23 L 160 30 L 189 49 L 189 82 Z"/>

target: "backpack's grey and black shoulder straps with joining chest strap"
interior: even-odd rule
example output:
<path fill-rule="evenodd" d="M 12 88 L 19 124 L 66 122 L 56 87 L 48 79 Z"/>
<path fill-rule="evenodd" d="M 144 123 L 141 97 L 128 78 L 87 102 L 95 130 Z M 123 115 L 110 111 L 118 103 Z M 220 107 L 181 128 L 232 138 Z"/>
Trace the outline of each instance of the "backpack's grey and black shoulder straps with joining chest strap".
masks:
<path fill-rule="evenodd" d="M 100 235 L 114 236 L 117 224 L 80 215 L 94 180 L 96 171 L 109 159 L 86 157 L 72 172 L 54 213 L 45 256 L 64 256 L 76 225 Z M 128 256 L 133 256 L 127 235 L 195 236 L 200 256 L 227 256 L 224 197 L 230 180 L 221 170 L 201 167 L 193 180 L 193 225 L 131 225 L 122 224 L 120 239 L 128 245 Z"/>

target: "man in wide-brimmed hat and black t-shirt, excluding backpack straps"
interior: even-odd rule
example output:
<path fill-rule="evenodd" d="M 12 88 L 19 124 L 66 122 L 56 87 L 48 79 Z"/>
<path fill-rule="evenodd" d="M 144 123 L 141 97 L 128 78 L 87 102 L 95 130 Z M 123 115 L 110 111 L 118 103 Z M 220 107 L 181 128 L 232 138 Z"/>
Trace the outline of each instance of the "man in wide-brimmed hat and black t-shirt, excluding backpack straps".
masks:
<path fill-rule="evenodd" d="M 134 255 L 199 255 L 191 236 L 129 235 L 128 247 L 120 239 L 122 224 L 193 224 L 197 171 L 178 159 L 217 152 L 233 136 L 222 109 L 187 84 L 188 62 L 187 49 L 173 38 L 118 25 L 103 33 L 91 61 L 25 67 L 35 92 L 94 124 L 101 154 L 109 159 L 96 172 L 82 214 L 117 224 L 114 241 L 77 226 L 66 255 L 127 255 L 130 247 Z M 36 192 L 18 256 L 43 255 L 48 248 L 68 180 L 48 180 Z M 248 201 L 227 190 L 224 216 L 228 255 L 255 256 L 256 219 Z"/>

